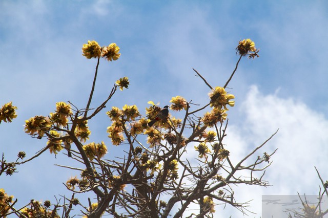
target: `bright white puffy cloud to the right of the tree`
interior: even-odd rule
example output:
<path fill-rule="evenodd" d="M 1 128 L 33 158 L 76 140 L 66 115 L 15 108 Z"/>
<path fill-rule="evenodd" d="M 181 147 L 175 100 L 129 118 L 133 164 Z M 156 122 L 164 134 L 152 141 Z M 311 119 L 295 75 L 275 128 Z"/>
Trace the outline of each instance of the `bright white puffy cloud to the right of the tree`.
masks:
<path fill-rule="evenodd" d="M 314 108 L 291 98 L 262 95 L 257 86 L 252 86 L 239 108 L 245 118 L 240 125 L 228 127 L 228 145 L 233 159 L 240 160 L 256 146 L 263 143 L 279 128 L 277 135 L 257 154 L 262 156 L 278 148 L 267 169 L 264 180 L 271 187 L 236 187 L 236 198 L 241 202 L 254 199 L 251 211 L 261 215 L 261 195 L 318 194 L 320 181 L 314 166 L 325 180 L 326 154 L 328 152 L 328 120 Z M 255 160 L 255 158 L 253 160 Z M 235 157 L 234 157 L 235 156 Z M 221 210 L 217 210 L 222 214 Z M 241 213 L 228 207 L 224 214 L 240 217 Z M 253 215 L 250 215 L 253 217 Z"/>

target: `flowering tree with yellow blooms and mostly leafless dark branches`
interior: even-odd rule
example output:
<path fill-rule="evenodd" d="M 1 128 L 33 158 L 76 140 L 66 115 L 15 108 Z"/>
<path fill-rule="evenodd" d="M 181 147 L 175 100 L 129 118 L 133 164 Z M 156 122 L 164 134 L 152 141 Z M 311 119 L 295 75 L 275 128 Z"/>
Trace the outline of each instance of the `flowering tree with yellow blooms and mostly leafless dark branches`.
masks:
<path fill-rule="evenodd" d="M 58 201 L 56 204 L 50 201 L 41 204 L 31 200 L 26 207 L 18 209 L 14 207 L 17 200 L 14 201 L 1 189 L 2 216 L 70 217 L 77 214 L 76 208 L 80 205 L 85 217 L 100 217 L 105 213 L 114 217 L 182 217 L 187 216 L 186 209 L 195 206 L 197 210 L 189 213 L 188 217 L 213 217 L 215 206 L 222 203 L 230 204 L 243 213 L 247 211 L 247 202 L 240 203 L 234 198 L 232 184 L 269 185 L 263 176 L 276 150 L 271 154 L 264 152 L 261 157 L 255 155 L 276 133 L 238 163 L 232 163 L 230 155 L 233 154 L 223 144 L 227 136 L 227 113 L 235 103 L 234 95 L 226 88 L 242 57 L 258 57 L 259 50 L 251 39 L 239 41 L 236 48 L 239 59 L 223 86 L 213 88 L 193 69 L 209 87 L 210 99 L 206 105 L 176 96 L 170 101 L 170 113 L 161 113 L 162 108 L 149 101 L 146 116 L 139 112 L 136 105 L 125 105 L 121 109 L 112 106 L 106 113 L 112 121 L 107 128 L 108 137 L 112 145 L 122 147 L 125 144 L 128 149 L 124 150 L 124 157 L 112 157 L 110 160 L 105 159 L 107 146 L 104 142 L 86 143 L 91 133 L 88 122 L 104 111 L 118 88 L 121 91 L 128 88 L 129 80 L 127 77 L 117 80 L 103 103 L 90 108 L 100 58 L 113 61 L 120 54 L 115 43 L 100 47 L 96 41 L 88 41 L 82 50 L 86 58 L 97 59 L 86 107 L 77 108 L 72 102 L 57 102 L 56 110 L 49 116 L 35 116 L 27 120 L 25 132 L 37 139 L 46 138 L 46 146 L 25 161 L 24 152 L 19 152 L 15 162 L 6 162 L 3 155 L 0 168 L 0 175 L 3 172 L 12 175 L 18 165 L 32 161 L 48 149 L 55 155 L 67 150 L 68 158 L 85 166 L 79 177 L 66 182 L 72 197 L 64 197 L 62 204 Z M 10 122 L 16 116 L 15 109 L 11 102 L 4 105 L 0 120 Z M 183 116 L 176 118 L 172 115 L 174 112 L 183 112 Z M 193 149 L 198 155 L 191 155 Z M 250 160 L 251 164 L 245 163 Z M 78 195 L 83 192 L 93 193 L 96 201 L 92 203 L 88 199 L 89 204 L 82 205 Z"/>

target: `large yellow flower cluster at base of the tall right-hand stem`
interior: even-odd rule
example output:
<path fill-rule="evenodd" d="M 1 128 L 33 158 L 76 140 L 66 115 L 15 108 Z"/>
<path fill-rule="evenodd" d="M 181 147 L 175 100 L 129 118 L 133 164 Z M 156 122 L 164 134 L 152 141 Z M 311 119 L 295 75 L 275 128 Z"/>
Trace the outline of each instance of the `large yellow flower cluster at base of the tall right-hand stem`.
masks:
<path fill-rule="evenodd" d="M 217 86 L 212 92 L 209 93 L 210 105 L 214 108 L 224 108 L 228 111 L 227 104 L 229 106 L 234 106 L 235 101 L 231 101 L 235 96 L 232 94 L 227 94 L 223 87 Z"/>

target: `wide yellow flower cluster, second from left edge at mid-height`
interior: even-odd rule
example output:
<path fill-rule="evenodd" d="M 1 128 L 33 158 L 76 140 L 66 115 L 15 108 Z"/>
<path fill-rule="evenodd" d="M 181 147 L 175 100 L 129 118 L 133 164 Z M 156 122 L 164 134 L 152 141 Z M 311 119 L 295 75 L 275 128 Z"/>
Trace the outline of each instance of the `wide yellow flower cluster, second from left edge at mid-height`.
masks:
<path fill-rule="evenodd" d="M 42 138 L 51 127 L 48 117 L 35 116 L 25 121 L 25 133 L 32 135 L 38 134 Z"/>

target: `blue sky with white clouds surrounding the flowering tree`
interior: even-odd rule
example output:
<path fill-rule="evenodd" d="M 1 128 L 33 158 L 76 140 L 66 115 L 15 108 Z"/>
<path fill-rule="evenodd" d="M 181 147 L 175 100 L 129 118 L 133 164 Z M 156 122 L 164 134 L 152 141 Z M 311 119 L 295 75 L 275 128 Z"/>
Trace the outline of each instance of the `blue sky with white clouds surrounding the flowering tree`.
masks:
<path fill-rule="evenodd" d="M 254 199 L 256 217 L 262 194 L 317 194 L 314 166 L 328 177 L 327 8 L 325 1 L 2 1 L 0 104 L 13 101 L 18 117 L 0 125 L 0 152 L 8 161 L 20 150 L 32 156 L 46 142 L 24 133 L 26 119 L 53 112 L 58 101 L 85 107 L 96 63 L 81 55 L 88 40 L 116 42 L 121 52 L 118 61 L 101 61 L 92 105 L 127 76 L 129 89 L 108 108 L 136 104 L 145 113 L 149 100 L 163 106 L 176 95 L 206 103 L 208 87 L 192 68 L 212 86 L 223 86 L 238 59 L 238 41 L 251 38 L 260 57 L 242 59 L 229 84 L 236 105 L 225 143 L 237 160 L 279 128 L 266 151 L 279 149 L 266 173 L 273 186 L 241 186 L 236 193 Z M 89 125 L 91 141 L 110 144 L 105 113 Z M 61 183 L 74 176 L 54 164 L 73 163 L 45 154 L 2 177 L 0 188 L 19 205 L 54 201 L 54 194 L 69 194 Z M 217 206 L 220 215 L 222 209 Z M 229 207 L 223 213 L 241 216 Z"/>

